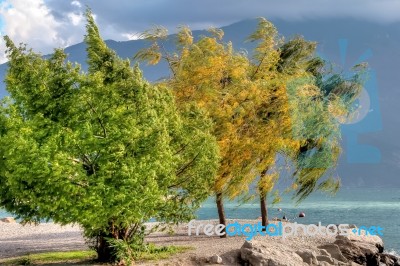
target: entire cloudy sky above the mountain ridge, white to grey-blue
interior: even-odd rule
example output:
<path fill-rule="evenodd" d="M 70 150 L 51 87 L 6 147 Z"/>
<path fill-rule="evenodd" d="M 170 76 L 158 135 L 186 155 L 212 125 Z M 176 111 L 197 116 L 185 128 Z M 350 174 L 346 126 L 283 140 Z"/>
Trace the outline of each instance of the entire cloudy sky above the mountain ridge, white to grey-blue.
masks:
<path fill-rule="evenodd" d="M 129 40 L 153 25 L 173 32 L 225 26 L 243 19 L 344 18 L 400 21 L 400 0 L 0 0 L 0 33 L 43 54 L 81 42 L 89 6 L 103 38 Z M 0 63 L 6 60 L 0 41 Z"/>

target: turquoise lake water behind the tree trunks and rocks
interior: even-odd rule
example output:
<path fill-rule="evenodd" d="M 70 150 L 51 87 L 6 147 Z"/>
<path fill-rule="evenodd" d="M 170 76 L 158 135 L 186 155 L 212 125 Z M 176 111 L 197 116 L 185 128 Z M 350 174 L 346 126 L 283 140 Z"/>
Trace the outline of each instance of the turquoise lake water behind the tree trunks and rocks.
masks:
<path fill-rule="evenodd" d="M 227 218 L 256 219 L 260 216 L 257 203 L 246 203 L 238 206 L 235 202 L 225 202 Z M 278 212 L 282 208 L 282 212 Z M 299 212 L 305 218 L 296 218 L 298 223 L 355 224 L 357 226 L 382 227 L 387 251 L 400 254 L 400 188 L 397 189 L 341 189 L 335 197 L 324 194 L 313 194 L 296 206 L 289 198 L 281 203 L 269 205 L 268 215 L 282 218 L 283 212 L 289 219 Z M 0 210 L 0 217 L 7 213 Z M 209 199 L 197 212 L 198 219 L 217 219 L 217 210 L 213 199 Z"/>

